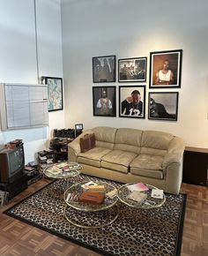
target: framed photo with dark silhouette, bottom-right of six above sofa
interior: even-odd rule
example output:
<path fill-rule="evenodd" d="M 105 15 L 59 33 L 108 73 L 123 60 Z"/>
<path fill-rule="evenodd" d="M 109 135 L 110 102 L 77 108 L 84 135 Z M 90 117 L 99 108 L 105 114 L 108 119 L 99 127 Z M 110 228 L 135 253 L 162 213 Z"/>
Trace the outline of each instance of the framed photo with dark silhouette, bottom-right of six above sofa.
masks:
<path fill-rule="evenodd" d="M 148 118 L 177 121 L 178 92 L 149 93 Z"/>

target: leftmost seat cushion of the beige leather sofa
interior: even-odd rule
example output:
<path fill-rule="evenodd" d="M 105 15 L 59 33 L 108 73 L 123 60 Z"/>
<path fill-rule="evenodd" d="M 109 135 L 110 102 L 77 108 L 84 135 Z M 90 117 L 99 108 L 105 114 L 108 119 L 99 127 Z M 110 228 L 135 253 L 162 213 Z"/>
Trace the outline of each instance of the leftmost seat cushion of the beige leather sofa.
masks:
<path fill-rule="evenodd" d="M 88 150 L 85 153 L 79 153 L 78 162 L 100 167 L 101 158 L 110 151 L 110 149 L 105 147 L 93 147 L 91 150 Z"/>

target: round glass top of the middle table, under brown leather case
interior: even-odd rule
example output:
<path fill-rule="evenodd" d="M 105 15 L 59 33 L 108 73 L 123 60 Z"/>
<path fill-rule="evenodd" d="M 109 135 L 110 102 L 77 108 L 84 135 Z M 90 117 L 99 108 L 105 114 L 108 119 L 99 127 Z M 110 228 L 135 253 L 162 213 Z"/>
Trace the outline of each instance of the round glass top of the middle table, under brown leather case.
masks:
<path fill-rule="evenodd" d="M 95 181 L 95 183 L 98 185 L 104 185 L 105 199 L 103 203 L 97 205 L 79 201 L 79 196 L 81 193 L 86 191 L 82 185 L 86 184 L 87 182 L 89 181 L 73 184 L 64 192 L 63 199 L 68 206 L 84 212 L 97 212 L 100 210 L 108 209 L 109 207 L 113 207 L 115 205 L 118 200 L 117 196 L 111 198 L 107 195 L 108 192 L 115 190 L 115 186 L 101 181 Z"/>

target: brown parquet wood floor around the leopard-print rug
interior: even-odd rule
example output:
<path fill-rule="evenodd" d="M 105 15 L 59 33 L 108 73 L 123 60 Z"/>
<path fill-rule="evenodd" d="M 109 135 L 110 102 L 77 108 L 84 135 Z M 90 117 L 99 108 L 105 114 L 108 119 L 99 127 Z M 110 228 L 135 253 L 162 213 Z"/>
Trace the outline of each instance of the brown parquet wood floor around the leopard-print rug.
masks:
<path fill-rule="evenodd" d="M 2 213 L 7 208 L 40 189 L 50 180 L 42 178 L 0 207 L 1 256 L 98 256 L 84 247 L 74 245 L 60 237 L 19 222 Z M 187 207 L 182 236 L 181 256 L 208 255 L 208 190 L 194 184 L 182 184 L 181 192 L 187 193 Z"/>

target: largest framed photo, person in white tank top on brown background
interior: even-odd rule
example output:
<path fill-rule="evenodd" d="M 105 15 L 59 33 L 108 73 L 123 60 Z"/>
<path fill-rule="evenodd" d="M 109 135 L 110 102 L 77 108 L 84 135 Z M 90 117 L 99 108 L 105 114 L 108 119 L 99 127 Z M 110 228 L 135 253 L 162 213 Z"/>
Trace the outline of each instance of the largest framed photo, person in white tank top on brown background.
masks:
<path fill-rule="evenodd" d="M 182 49 L 150 53 L 150 88 L 181 87 Z"/>

